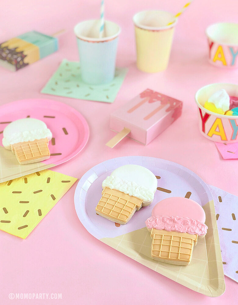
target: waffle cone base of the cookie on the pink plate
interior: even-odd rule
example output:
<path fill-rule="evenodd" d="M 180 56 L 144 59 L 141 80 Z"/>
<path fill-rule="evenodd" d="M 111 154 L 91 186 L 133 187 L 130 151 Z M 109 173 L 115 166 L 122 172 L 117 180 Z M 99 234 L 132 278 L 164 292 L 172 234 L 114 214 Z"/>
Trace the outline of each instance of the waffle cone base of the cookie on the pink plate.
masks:
<path fill-rule="evenodd" d="M 20 164 L 29 164 L 49 159 L 48 139 L 21 142 L 11 145 L 12 152 Z"/>

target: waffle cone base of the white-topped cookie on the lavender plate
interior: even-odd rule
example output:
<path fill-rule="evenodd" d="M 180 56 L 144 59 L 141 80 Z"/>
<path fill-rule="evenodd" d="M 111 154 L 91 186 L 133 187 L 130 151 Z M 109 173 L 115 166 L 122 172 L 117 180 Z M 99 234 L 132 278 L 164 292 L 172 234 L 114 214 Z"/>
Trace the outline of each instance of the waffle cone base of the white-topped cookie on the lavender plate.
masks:
<path fill-rule="evenodd" d="M 118 224 L 126 224 L 135 211 L 143 206 L 142 202 L 139 198 L 105 187 L 96 206 L 96 213 Z"/>

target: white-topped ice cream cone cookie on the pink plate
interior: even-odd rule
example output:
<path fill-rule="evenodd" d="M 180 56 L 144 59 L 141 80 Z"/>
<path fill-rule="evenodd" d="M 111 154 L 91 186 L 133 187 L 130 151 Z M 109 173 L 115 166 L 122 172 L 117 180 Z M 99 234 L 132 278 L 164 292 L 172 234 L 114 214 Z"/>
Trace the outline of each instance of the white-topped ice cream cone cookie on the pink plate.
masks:
<path fill-rule="evenodd" d="M 11 122 L 3 131 L 2 145 L 11 150 L 20 164 L 49 159 L 51 131 L 41 120 L 26 118 Z"/>

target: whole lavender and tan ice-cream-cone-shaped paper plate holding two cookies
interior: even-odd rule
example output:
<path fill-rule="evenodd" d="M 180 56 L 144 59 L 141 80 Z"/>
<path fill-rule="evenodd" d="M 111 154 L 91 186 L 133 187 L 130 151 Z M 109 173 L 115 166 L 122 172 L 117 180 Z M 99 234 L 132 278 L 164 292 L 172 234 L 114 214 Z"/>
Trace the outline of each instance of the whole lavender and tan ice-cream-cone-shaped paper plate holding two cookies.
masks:
<path fill-rule="evenodd" d="M 125 164 L 142 165 L 151 170 L 157 176 L 159 189 L 150 206 L 141 208 L 127 224 L 118 227 L 118 224 L 96 215 L 95 208 L 101 198 L 102 181 L 112 170 Z M 145 220 L 151 216 L 157 202 L 174 196 L 190 197 L 203 206 L 206 213 L 207 235 L 198 241 L 189 266 L 157 262 L 150 256 L 151 238 Z M 74 204 L 78 218 L 88 232 L 117 251 L 206 296 L 220 296 L 225 291 L 213 198 L 204 181 L 186 167 L 143 156 L 107 160 L 83 175 L 75 190 Z"/>

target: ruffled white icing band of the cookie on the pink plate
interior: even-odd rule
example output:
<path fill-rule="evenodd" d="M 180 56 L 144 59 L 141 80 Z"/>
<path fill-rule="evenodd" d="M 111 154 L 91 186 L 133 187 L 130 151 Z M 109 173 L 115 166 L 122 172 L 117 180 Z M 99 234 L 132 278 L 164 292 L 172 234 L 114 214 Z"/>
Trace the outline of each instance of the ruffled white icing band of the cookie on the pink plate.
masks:
<path fill-rule="evenodd" d="M 25 130 L 22 132 L 14 132 L 8 138 L 2 139 L 3 146 L 10 146 L 20 142 L 28 142 L 43 138 L 52 138 L 52 133 L 49 128 L 39 128 L 34 130 Z"/>

